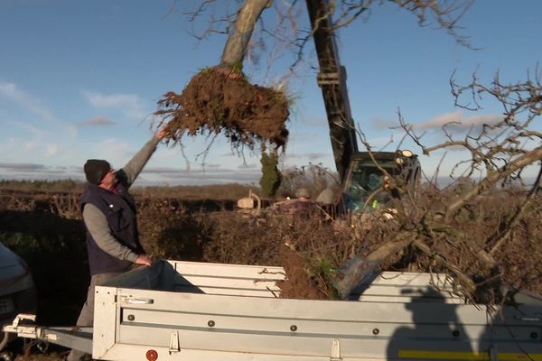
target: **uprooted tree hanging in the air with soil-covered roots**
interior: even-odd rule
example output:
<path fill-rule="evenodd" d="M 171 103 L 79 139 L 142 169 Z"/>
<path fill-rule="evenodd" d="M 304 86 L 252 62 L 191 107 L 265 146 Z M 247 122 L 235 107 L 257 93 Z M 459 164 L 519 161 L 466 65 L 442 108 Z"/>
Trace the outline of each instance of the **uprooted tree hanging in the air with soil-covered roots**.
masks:
<path fill-rule="evenodd" d="M 468 7 L 468 2 L 459 5 L 447 4 L 434 0 L 393 0 L 406 10 L 416 14 L 420 23 L 434 18 L 440 27 L 452 33 L 458 42 L 466 39 L 455 32 L 455 23 Z M 224 2 L 215 0 L 197 1 L 196 9 L 188 12 L 189 20 L 195 23 L 212 6 L 220 8 L 218 18 L 211 12 L 209 27 L 201 38 L 210 33 L 226 33 L 225 44 L 220 64 L 201 70 L 195 75 L 181 94 L 170 91 L 158 101 L 159 110 L 155 112 L 167 124 L 167 139 L 182 143 L 186 135 L 204 135 L 210 137 L 210 143 L 218 134 L 225 134 L 236 149 L 248 146 L 253 149 L 257 143 L 283 147 L 288 131 L 285 122 L 289 116 L 289 99 L 284 88 L 265 88 L 250 84 L 245 78 L 243 60 L 248 52 L 257 23 L 261 24 L 262 33 L 282 42 L 285 48 L 294 47 L 298 60 L 302 58 L 304 46 L 311 39 L 308 35 L 296 34 L 299 20 L 298 1 L 292 4 L 276 5 L 279 24 L 275 31 L 268 31 L 263 25 L 261 15 L 264 10 L 274 5 L 273 0 L 245 0 L 238 9 L 228 12 Z M 361 14 L 369 11 L 372 1 L 330 1 L 327 6 L 332 14 L 338 14 L 337 27 L 346 26 Z M 225 9 L 225 10 L 224 10 Z M 328 14 L 326 14 L 327 16 Z M 294 35 L 286 31 L 294 29 Z"/>

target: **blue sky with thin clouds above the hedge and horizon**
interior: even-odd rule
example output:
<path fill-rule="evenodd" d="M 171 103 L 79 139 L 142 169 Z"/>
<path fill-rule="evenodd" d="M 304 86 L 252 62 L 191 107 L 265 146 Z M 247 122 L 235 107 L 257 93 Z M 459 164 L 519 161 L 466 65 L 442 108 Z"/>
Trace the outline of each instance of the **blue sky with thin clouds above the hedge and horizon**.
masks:
<path fill-rule="evenodd" d="M 0 0 L 0 178 L 82 180 L 89 158 L 122 167 L 151 137 L 151 114 L 161 95 L 182 91 L 199 69 L 220 60 L 224 36 L 198 42 L 188 33 L 192 25 L 181 12 L 196 3 Z M 220 0 L 222 6 L 233 3 Z M 274 14 L 266 10 L 266 24 Z M 428 132 L 429 145 L 442 140 L 437 129 L 445 121 L 498 118 L 501 110 L 491 102 L 477 113 L 454 107 L 449 79 L 454 70 L 463 83 L 474 71 L 485 83 L 496 71 L 505 82 L 526 79 L 542 60 L 539 14 L 537 0 L 476 1 L 460 22 L 460 32 L 481 48 L 472 51 L 442 30 L 420 27 L 397 5 L 376 5 L 367 20 L 339 32 L 356 124 L 376 149 L 393 139 L 387 149 L 395 150 L 402 134 L 389 126 L 397 125 L 397 109 Z M 322 96 L 310 68 L 316 64 L 312 42 L 306 53 L 304 67 L 286 78 L 295 101 L 282 166 L 313 162 L 334 170 Z M 267 64 L 269 54 L 284 56 Z M 265 85 L 282 81 L 292 63 L 271 45 L 261 59 L 259 65 L 247 62 L 245 70 Z M 179 146 L 161 145 L 137 184 L 257 182 L 257 154 L 246 151 L 243 159 L 222 138 L 202 166 L 203 158 L 196 157 L 207 143 L 186 139 L 186 158 Z M 419 152 L 414 144 L 404 147 Z M 442 172 L 461 156 L 449 154 Z M 421 158 L 428 174 L 439 161 L 438 154 Z"/>

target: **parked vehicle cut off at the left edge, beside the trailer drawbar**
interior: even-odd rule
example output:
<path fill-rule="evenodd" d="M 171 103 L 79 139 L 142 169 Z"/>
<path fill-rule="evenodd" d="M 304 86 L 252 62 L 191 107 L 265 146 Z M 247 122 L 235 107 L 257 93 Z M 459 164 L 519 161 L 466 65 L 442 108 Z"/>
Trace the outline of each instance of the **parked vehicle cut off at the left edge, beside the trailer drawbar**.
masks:
<path fill-rule="evenodd" d="M 24 261 L 0 243 L 0 326 L 11 324 L 22 312 L 35 312 L 36 290 Z M 0 350 L 14 338 L 0 330 Z"/>

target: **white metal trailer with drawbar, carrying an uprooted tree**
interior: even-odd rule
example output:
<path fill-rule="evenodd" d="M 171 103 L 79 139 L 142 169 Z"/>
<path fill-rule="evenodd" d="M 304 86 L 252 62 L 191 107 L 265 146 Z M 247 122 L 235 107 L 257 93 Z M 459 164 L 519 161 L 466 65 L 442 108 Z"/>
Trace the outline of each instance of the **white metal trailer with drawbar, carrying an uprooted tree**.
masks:
<path fill-rule="evenodd" d="M 280 267 L 160 261 L 97 287 L 94 327 L 5 328 L 98 360 L 542 360 L 542 298 L 465 304 L 443 276 L 379 273 L 350 301 L 278 298 Z"/>

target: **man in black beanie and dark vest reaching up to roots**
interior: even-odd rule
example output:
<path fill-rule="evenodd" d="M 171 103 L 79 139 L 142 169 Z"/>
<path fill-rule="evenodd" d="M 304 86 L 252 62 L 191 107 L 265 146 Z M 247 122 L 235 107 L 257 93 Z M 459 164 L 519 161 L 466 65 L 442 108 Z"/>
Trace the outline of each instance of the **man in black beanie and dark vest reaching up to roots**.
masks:
<path fill-rule="evenodd" d="M 94 320 L 94 289 L 133 264 L 152 265 L 139 243 L 134 199 L 128 189 L 134 183 L 146 162 L 153 155 L 156 145 L 164 138 L 161 129 L 153 139 L 115 171 L 108 162 L 90 159 L 85 163 L 88 183 L 79 205 L 87 227 L 90 285 L 87 301 L 79 314 L 77 326 L 92 326 Z M 68 361 L 80 360 L 85 353 L 71 350 Z"/>

